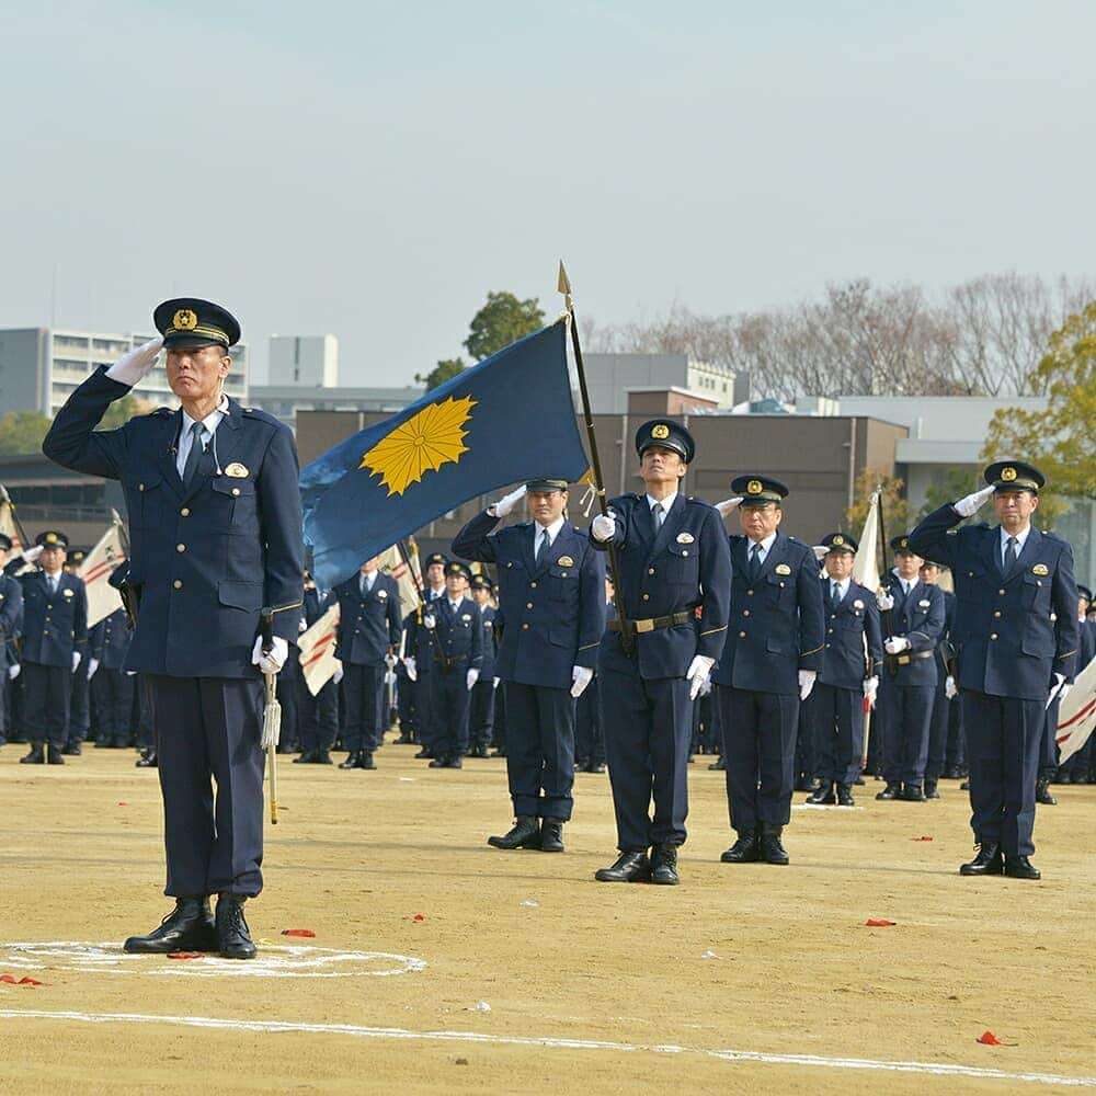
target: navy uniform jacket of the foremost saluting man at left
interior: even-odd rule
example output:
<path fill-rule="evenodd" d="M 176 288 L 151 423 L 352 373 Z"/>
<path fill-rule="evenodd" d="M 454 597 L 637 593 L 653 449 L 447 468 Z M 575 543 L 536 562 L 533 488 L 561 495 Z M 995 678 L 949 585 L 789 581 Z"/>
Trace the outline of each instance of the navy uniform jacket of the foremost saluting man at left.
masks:
<path fill-rule="evenodd" d="M 215 435 L 220 471 L 199 472 L 187 489 L 175 468 L 181 410 L 160 408 L 118 430 L 94 430 L 128 392 L 105 369 L 93 373 L 42 443 L 65 468 L 122 481 L 130 580 L 141 589 L 126 669 L 258 677 L 251 650 L 259 610 L 297 606 L 274 616 L 274 635 L 290 643 L 300 620 L 304 543 L 293 435 L 264 411 L 229 400 Z M 230 467 L 240 475 L 227 475 Z"/>

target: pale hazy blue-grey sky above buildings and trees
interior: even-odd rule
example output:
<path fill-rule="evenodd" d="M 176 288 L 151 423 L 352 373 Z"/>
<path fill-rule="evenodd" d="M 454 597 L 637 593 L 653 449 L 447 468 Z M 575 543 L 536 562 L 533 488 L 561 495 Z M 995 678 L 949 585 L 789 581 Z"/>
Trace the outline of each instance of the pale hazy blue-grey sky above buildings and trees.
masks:
<path fill-rule="evenodd" d="M 488 292 L 717 315 L 868 277 L 1091 276 L 1088 0 L 100 0 L 0 8 L 0 327 L 176 295 L 463 353 Z M 467 359 L 467 357 L 466 357 Z"/>

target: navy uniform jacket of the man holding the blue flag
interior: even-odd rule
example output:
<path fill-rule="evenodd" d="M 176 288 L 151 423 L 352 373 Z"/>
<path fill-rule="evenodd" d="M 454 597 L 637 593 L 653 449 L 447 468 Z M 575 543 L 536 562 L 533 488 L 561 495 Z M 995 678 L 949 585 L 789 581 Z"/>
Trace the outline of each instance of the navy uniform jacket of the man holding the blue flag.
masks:
<path fill-rule="evenodd" d="M 609 509 L 616 515 L 613 544 L 623 587 L 617 597 L 623 598 L 626 618 L 646 620 L 686 612 L 694 617 L 636 636 L 640 676 L 684 677 L 695 655 L 718 660 L 727 639 L 731 593 L 731 560 L 719 511 L 678 492 L 655 536 L 646 494 L 618 495 Z M 608 548 L 608 541 L 590 540 L 603 551 Z M 628 672 L 620 632 L 605 632 L 601 657 Z"/>

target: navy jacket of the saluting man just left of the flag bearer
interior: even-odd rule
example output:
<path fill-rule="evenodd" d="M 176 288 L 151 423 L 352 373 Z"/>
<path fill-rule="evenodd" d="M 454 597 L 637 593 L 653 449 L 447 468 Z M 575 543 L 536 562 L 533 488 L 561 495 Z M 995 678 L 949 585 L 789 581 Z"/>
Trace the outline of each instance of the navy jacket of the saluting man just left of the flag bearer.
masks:
<path fill-rule="evenodd" d="M 573 666 L 593 669 L 605 630 L 605 561 L 583 529 L 564 521 L 540 563 L 534 522 L 491 534 L 499 518 L 483 511 L 456 536 L 453 550 L 499 569 L 506 627 L 494 674 L 522 685 L 570 688 Z"/>

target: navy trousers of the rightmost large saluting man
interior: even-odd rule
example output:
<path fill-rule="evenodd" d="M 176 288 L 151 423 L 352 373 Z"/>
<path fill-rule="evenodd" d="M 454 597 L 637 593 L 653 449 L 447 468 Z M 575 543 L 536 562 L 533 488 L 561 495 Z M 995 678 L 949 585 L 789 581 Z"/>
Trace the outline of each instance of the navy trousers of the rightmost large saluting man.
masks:
<path fill-rule="evenodd" d="M 1009 856 L 1030 856 L 1043 701 L 968 689 L 960 700 L 974 841 L 1000 844 Z"/>

